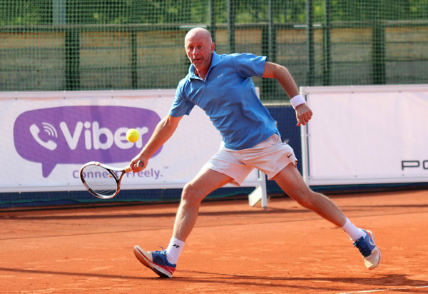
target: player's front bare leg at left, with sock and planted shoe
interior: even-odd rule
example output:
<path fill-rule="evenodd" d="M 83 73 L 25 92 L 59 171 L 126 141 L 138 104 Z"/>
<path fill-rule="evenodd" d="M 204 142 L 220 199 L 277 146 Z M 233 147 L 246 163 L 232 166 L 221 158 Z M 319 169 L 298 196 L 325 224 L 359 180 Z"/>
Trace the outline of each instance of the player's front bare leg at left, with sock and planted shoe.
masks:
<path fill-rule="evenodd" d="M 183 188 L 180 206 L 178 206 L 177 215 L 175 216 L 173 238 L 171 238 L 168 248 L 151 252 L 135 246 L 134 254 L 136 258 L 161 277 L 171 278 L 175 271 L 178 255 L 180 255 L 185 240 L 195 226 L 200 202 L 210 192 L 225 186 L 231 181 L 233 179 L 223 173 L 203 168 Z"/>

